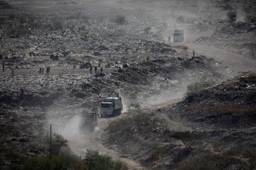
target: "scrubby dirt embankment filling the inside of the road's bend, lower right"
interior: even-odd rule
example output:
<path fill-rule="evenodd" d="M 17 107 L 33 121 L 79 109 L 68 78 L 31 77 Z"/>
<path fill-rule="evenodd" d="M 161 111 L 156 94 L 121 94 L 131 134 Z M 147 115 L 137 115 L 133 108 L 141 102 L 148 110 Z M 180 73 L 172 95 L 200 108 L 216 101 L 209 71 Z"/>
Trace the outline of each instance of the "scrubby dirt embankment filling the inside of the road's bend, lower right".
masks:
<path fill-rule="evenodd" d="M 197 167 L 196 161 L 213 158 L 216 169 L 255 167 L 255 78 L 245 73 L 174 105 L 127 115 L 113 121 L 102 140 L 147 168 Z"/>

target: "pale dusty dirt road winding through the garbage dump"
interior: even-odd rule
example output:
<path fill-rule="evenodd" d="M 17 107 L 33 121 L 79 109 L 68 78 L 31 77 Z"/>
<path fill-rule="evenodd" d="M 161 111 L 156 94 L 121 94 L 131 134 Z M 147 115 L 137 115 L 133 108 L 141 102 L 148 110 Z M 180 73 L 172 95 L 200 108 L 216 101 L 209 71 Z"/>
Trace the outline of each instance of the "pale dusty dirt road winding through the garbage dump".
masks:
<path fill-rule="evenodd" d="M 205 55 L 214 58 L 217 61 L 221 61 L 225 63 L 228 67 L 231 68 L 232 72 L 229 73 L 229 76 L 235 76 L 239 71 L 248 71 L 248 70 L 254 70 L 256 66 L 256 61 L 251 60 L 249 58 L 245 58 L 243 56 L 240 56 L 239 54 L 224 51 L 221 49 L 216 49 L 211 46 L 206 46 L 203 44 L 194 43 L 194 40 L 200 35 L 191 35 L 189 36 L 189 39 L 186 39 L 186 42 L 180 43 L 180 44 L 186 44 L 186 46 L 189 47 L 191 52 L 192 50 L 196 51 L 196 55 Z M 157 107 L 163 107 L 170 104 L 174 104 L 176 102 L 181 101 L 182 96 L 171 96 L 166 97 L 161 101 L 149 101 L 142 103 L 142 107 L 146 108 L 149 107 L 150 109 L 155 109 Z M 105 148 L 102 145 L 102 141 L 100 139 L 100 135 L 103 132 L 103 129 L 107 128 L 108 124 L 111 123 L 114 120 L 120 119 L 123 117 L 117 116 L 117 117 L 109 117 L 109 118 L 100 118 L 99 119 L 99 129 L 97 131 L 94 131 L 92 134 L 84 134 L 81 135 L 79 138 L 80 140 L 72 140 L 70 141 L 70 147 L 73 151 L 75 151 L 77 154 L 84 157 L 86 155 L 86 149 L 94 149 L 98 150 L 99 153 L 103 154 L 109 154 L 114 159 L 121 159 L 124 162 L 127 163 L 129 166 L 129 169 L 135 169 L 135 168 L 143 168 L 139 163 L 135 162 L 132 159 L 129 158 L 120 158 L 120 154 L 115 151 L 115 149 L 108 149 Z M 173 130 L 176 129 L 183 129 L 183 130 L 191 130 L 190 126 L 182 126 L 182 123 L 175 122 L 173 120 L 170 120 L 166 115 L 161 115 L 163 119 L 167 119 L 169 123 L 169 127 Z M 181 127 L 182 126 L 182 127 Z M 188 129 L 190 128 L 190 129 Z M 193 128 L 193 127 L 192 127 Z M 77 138 L 76 138 L 77 139 Z"/>

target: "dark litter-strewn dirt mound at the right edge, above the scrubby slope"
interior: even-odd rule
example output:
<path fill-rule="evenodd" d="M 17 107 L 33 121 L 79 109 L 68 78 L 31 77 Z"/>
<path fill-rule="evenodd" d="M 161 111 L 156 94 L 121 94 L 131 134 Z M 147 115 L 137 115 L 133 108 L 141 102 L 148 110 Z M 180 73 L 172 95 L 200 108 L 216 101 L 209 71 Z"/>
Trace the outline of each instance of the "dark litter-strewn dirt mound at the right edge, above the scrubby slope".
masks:
<path fill-rule="evenodd" d="M 218 127 L 256 126 L 256 75 L 246 75 L 189 95 L 174 108 L 182 119 Z"/>

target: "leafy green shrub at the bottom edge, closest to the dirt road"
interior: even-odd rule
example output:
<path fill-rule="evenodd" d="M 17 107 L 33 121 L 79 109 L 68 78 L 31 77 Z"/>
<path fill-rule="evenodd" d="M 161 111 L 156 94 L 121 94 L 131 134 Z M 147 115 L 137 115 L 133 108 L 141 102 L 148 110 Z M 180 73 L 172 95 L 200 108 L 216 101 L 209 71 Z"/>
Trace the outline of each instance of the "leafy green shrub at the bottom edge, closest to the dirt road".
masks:
<path fill-rule="evenodd" d="M 89 170 L 128 170 L 127 165 L 122 161 L 112 160 L 109 155 L 100 155 L 93 150 L 87 150 L 83 162 Z"/>

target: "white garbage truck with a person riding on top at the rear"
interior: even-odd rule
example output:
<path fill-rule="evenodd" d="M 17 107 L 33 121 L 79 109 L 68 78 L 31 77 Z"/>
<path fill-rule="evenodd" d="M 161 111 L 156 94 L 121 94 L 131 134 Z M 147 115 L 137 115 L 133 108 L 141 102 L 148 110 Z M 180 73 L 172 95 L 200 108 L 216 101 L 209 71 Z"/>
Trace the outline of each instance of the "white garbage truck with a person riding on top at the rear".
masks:
<path fill-rule="evenodd" d="M 123 110 L 123 104 L 121 97 L 107 97 L 102 100 L 100 104 L 100 115 L 112 115 L 121 114 Z"/>

